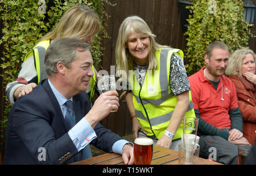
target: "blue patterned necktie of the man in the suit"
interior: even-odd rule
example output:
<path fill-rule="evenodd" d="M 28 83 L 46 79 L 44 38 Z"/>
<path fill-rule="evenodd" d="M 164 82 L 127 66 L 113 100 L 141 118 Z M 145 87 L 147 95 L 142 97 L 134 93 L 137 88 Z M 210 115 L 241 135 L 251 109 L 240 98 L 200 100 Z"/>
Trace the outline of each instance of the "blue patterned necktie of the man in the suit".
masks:
<path fill-rule="evenodd" d="M 65 115 L 65 124 L 68 128 L 68 131 L 76 125 L 76 116 L 75 113 L 73 111 L 73 104 L 71 100 L 68 100 L 65 102 L 65 105 L 67 106 L 67 113 Z M 74 161 L 79 161 L 81 158 L 81 153 L 78 153 L 75 157 L 74 157 Z"/>

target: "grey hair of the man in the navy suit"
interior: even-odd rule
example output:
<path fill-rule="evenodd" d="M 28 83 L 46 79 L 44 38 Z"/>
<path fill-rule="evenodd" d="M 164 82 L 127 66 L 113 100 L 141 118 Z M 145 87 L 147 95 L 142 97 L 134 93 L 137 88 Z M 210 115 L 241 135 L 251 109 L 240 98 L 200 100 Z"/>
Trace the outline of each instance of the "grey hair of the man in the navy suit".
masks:
<path fill-rule="evenodd" d="M 44 59 L 44 69 L 47 76 L 57 73 L 57 62 L 61 62 L 65 67 L 70 68 L 71 62 L 77 58 L 77 51 L 90 50 L 90 45 L 79 38 L 60 38 L 54 40 L 46 51 Z"/>

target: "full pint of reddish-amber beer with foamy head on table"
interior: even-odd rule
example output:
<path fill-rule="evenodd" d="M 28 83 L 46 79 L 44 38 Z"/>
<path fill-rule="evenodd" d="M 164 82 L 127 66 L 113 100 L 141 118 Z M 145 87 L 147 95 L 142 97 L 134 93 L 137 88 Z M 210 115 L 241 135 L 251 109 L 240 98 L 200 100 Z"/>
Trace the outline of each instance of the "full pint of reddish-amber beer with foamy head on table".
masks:
<path fill-rule="evenodd" d="M 150 165 L 153 154 L 153 140 L 150 138 L 136 138 L 134 140 L 135 165 Z"/>

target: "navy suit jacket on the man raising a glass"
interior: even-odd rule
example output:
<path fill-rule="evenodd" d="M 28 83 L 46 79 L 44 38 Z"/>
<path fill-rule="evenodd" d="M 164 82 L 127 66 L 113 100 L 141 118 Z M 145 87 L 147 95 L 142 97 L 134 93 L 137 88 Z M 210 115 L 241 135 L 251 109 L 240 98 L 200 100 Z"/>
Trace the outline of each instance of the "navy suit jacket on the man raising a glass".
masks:
<path fill-rule="evenodd" d="M 90 110 L 87 93 L 73 96 L 73 109 L 77 123 Z M 123 139 L 100 123 L 94 131 L 97 138 L 90 144 L 105 152 L 112 152 L 115 141 Z M 42 147 L 46 149 L 45 161 L 40 158 Z M 48 80 L 42 80 L 31 93 L 18 98 L 10 110 L 3 164 L 63 164 L 60 158 L 68 161 L 77 152 Z"/>

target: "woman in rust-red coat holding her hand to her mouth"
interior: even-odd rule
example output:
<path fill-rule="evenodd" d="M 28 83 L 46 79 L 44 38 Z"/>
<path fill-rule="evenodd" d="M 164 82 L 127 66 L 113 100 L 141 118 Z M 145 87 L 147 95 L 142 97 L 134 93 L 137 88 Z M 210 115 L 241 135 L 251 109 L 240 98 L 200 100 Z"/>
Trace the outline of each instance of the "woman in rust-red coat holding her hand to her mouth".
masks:
<path fill-rule="evenodd" d="M 233 81 L 243 117 L 243 135 L 251 145 L 256 138 L 256 55 L 250 49 L 238 49 L 229 58 L 225 74 Z"/>

